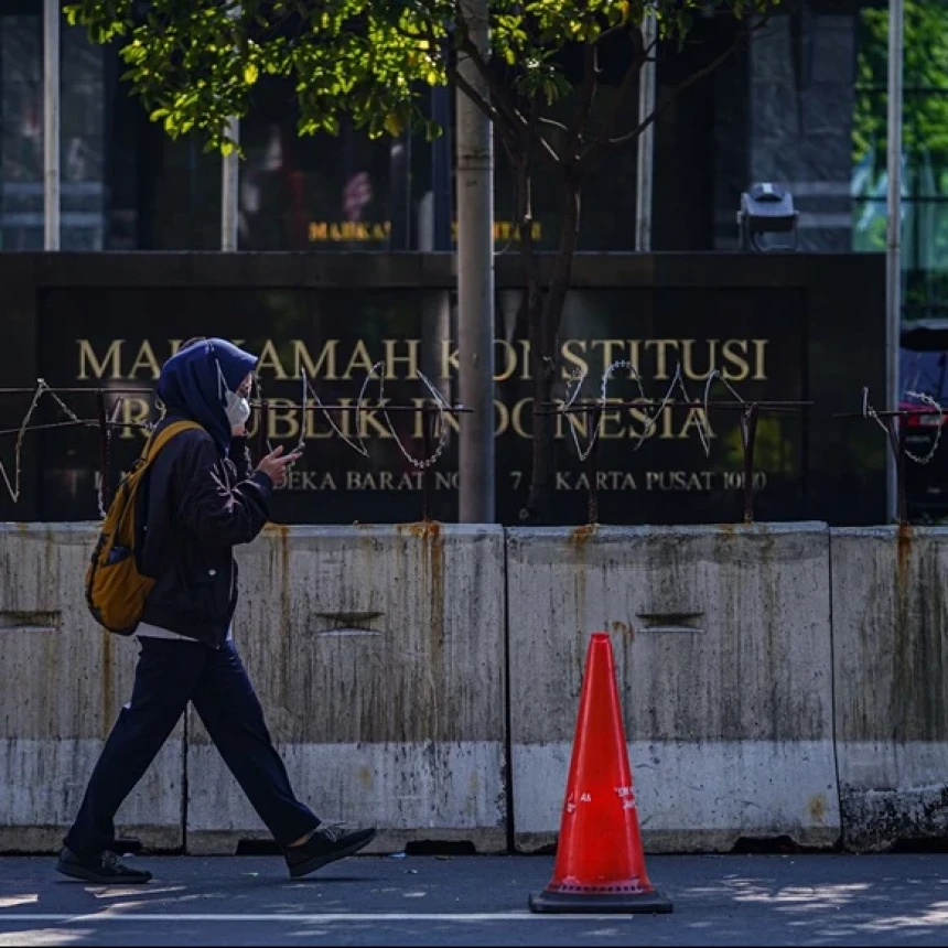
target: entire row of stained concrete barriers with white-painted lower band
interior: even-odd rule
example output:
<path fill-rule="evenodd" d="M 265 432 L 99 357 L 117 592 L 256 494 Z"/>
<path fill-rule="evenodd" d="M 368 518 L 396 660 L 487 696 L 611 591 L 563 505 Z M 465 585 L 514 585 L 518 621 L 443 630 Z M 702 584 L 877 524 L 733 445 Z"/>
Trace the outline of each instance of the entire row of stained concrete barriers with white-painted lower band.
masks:
<path fill-rule="evenodd" d="M 0 851 L 58 847 L 131 696 L 137 644 L 85 606 L 96 535 L 0 525 Z M 647 849 L 948 834 L 948 530 L 515 529 L 506 561 L 504 536 L 273 527 L 239 551 L 237 643 L 321 817 L 378 825 L 376 851 L 499 852 L 508 822 L 521 850 L 552 843 L 588 637 L 607 631 Z M 174 849 L 186 828 L 196 853 L 266 837 L 193 714 L 186 740 L 120 834 Z"/>

